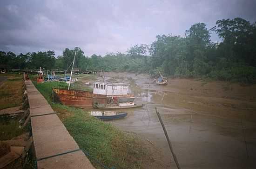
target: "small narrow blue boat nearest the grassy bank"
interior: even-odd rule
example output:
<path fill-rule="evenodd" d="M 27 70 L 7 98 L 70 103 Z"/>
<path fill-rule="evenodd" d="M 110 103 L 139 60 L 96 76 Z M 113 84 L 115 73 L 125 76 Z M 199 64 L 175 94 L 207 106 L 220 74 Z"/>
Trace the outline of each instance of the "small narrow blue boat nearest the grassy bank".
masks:
<path fill-rule="evenodd" d="M 92 111 L 91 115 L 97 119 L 101 120 L 112 120 L 112 119 L 121 119 L 127 116 L 127 113 L 115 113 L 112 111 Z"/>

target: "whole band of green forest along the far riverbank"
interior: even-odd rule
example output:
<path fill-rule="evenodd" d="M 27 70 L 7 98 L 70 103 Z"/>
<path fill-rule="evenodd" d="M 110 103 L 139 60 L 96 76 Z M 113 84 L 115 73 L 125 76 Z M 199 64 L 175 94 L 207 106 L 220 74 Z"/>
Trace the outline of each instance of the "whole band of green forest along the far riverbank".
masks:
<path fill-rule="evenodd" d="M 210 40 L 216 32 L 220 43 Z M 76 68 L 88 70 L 150 73 L 161 71 L 166 76 L 212 78 L 221 81 L 256 83 L 256 22 L 245 19 L 222 19 L 208 30 L 204 23 L 192 25 L 185 36 L 157 35 L 152 44 L 134 45 L 127 54 L 107 53 L 104 57 L 85 56 L 76 47 L 65 49 L 62 56 L 54 51 L 33 52 L 16 56 L 0 51 L 0 64 L 16 69 L 62 69 L 72 63 L 77 51 Z"/>

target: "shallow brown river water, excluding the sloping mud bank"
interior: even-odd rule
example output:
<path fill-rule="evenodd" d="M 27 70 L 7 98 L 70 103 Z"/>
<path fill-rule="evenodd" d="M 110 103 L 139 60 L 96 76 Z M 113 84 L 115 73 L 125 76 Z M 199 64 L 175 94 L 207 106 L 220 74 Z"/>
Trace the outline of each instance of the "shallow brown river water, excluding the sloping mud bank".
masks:
<path fill-rule="evenodd" d="M 126 118 L 110 122 L 152 142 L 161 151 L 162 168 L 176 167 L 155 107 L 161 114 L 182 169 L 256 168 L 256 123 L 243 116 L 243 113 L 254 114 L 254 109 L 241 113 L 230 107 L 209 106 L 196 98 L 147 84 L 146 78 L 138 80 L 130 75 L 119 80 L 128 81 L 135 102 L 145 106 L 129 109 Z"/>

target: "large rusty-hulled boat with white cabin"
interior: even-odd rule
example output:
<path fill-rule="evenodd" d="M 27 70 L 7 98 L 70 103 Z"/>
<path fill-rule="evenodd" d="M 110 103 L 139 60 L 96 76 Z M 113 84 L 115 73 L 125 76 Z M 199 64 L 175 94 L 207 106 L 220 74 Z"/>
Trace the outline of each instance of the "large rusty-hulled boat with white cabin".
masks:
<path fill-rule="evenodd" d="M 53 101 L 67 106 L 92 108 L 95 104 L 134 101 L 134 95 L 128 94 L 128 85 L 124 83 L 94 82 L 93 92 L 52 88 Z"/>

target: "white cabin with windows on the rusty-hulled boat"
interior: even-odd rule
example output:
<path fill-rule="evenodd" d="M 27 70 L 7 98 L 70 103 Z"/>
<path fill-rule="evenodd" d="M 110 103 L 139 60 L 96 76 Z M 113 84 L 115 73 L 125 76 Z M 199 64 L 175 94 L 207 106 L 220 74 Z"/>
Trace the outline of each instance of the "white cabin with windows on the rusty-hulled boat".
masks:
<path fill-rule="evenodd" d="M 94 94 L 107 96 L 127 95 L 129 86 L 125 83 L 94 82 Z"/>

